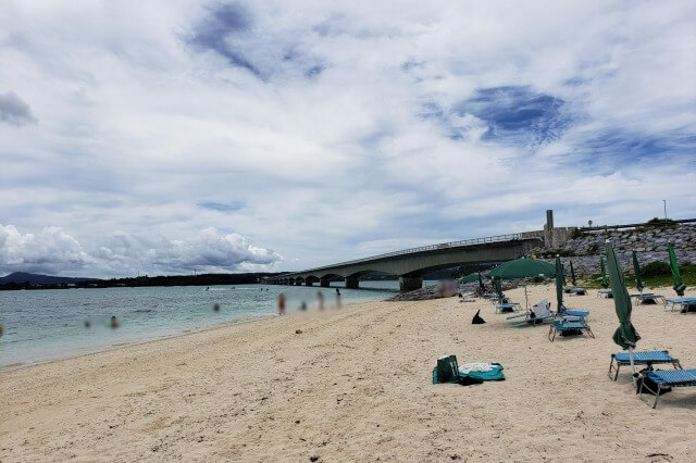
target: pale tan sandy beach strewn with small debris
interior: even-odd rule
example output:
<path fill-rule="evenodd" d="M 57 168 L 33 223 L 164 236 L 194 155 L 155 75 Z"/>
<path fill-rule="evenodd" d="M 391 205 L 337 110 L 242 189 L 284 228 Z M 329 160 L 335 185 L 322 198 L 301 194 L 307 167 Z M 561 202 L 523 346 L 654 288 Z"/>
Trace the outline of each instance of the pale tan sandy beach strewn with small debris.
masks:
<path fill-rule="evenodd" d="M 671 297 L 671 288 L 655 290 Z M 522 289 L 508 291 L 524 303 Z M 689 296 L 693 296 L 693 291 Z M 554 301 L 552 286 L 530 300 Z M 641 402 L 612 300 L 596 339 L 513 328 L 480 300 L 290 314 L 0 372 L 0 456 L 14 461 L 693 461 L 696 388 Z M 485 325 L 472 325 L 481 309 Z M 696 367 L 696 314 L 634 308 L 639 350 Z M 296 330 L 301 333 L 297 334 Z M 433 385 L 436 359 L 499 362 L 505 381 Z M 664 366 L 667 367 L 667 366 Z"/>

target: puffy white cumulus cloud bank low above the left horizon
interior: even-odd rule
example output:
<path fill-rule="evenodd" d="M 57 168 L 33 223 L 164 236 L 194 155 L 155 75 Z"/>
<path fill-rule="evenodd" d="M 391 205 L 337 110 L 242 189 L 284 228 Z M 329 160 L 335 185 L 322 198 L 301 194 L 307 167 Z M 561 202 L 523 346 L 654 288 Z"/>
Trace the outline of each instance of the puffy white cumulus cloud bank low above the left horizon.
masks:
<path fill-rule="evenodd" d="M 256 247 L 237 234 L 201 230 L 190 240 L 162 235 L 136 236 L 115 232 L 87 252 L 58 227 L 22 234 L 0 225 L 0 272 L 40 272 L 90 276 L 133 275 L 137 272 L 182 274 L 198 272 L 264 271 L 282 256 Z"/>

